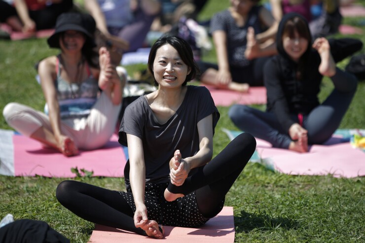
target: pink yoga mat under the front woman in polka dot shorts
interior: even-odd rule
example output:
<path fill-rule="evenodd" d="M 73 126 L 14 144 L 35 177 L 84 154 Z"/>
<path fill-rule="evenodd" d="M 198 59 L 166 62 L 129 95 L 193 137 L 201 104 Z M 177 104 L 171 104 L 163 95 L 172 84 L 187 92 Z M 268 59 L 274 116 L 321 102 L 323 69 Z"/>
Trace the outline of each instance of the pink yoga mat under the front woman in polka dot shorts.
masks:
<path fill-rule="evenodd" d="M 164 226 L 165 237 L 161 240 L 140 236 L 128 231 L 96 225 L 89 243 L 233 243 L 233 208 L 223 207 L 221 212 L 200 228 Z"/>

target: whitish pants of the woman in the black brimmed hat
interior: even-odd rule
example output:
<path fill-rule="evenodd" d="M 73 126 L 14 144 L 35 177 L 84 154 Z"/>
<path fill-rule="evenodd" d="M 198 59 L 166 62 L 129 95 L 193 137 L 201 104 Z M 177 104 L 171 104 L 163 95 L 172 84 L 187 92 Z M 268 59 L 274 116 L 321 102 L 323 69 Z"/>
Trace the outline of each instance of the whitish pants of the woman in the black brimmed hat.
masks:
<path fill-rule="evenodd" d="M 82 119 L 62 120 L 61 133 L 72 138 L 80 149 L 90 150 L 102 147 L 115 131 L 120 108 L 121 104 L 113 105 L 109 97 L 102 92 L 89 116 Z M 48 116 L 27 105 L 6 104 L 2 114 L 9 126 L 24 136 L 30 137 L 40 127 L 52 132 Z"/>

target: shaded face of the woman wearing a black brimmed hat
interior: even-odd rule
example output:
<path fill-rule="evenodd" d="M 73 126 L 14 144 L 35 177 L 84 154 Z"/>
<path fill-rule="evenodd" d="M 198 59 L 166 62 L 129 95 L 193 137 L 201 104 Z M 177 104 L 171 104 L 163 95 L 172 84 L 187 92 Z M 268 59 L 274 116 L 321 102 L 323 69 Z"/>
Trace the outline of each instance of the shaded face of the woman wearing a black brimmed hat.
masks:
<path fill-rule="evenodd" d="M 85 36 L 79 31 L 65 31 L 60 36 L 60 46 L 64 51 L 81 51 L 85 40 Z"/>

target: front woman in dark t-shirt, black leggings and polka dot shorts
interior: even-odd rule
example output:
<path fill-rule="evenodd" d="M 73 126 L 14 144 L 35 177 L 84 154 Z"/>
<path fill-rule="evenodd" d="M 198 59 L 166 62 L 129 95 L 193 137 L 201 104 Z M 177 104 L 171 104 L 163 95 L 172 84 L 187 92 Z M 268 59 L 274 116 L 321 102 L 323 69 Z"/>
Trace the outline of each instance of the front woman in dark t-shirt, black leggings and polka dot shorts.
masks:
<path fill-rule="evenodd" d="M 219 112 L 205 87 L 186 85 L 198 68 L 182 38 L 160 37 L 148 68 L 158 90 L 126 107 L 119 130 L 127 191 L 63 181 L 56 196 L 86 220 L 161 239 L 159 225 L 199 227 L 220 212 L 256 142 L 242 134 L 212 159 Z"/>

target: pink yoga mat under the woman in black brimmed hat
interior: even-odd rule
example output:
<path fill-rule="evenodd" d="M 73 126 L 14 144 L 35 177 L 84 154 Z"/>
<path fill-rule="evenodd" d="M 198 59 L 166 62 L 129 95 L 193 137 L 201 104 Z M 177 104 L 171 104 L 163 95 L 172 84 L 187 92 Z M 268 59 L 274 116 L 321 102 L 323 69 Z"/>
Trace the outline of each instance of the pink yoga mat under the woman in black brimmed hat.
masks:
<path fill-rule="evenodd" d="M 93 176 L 122 177 L 126 163 L 123 148 L 113 135 L 103 148 L 80 151 L 73 157 L 65 157 L 54 149 L 25 136 L 14 135 L 15 176 L 42 175 L 48 177 L 74 177 L 71 168 L 93 171 Z"/>

